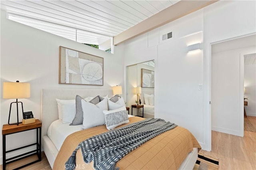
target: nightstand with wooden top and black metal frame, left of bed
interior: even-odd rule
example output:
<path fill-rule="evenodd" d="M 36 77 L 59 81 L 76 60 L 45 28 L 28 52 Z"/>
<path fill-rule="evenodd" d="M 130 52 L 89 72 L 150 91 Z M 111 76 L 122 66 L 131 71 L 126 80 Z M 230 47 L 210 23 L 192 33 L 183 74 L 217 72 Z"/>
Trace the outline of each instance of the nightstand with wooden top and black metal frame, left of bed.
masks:
<path fill-rule="evenodd" d="M 20 148 L 15 148 L 15 149 L 6 151 L 6 135 L 14 134 L 14 133 L 18 133 L 18 132 L 24 132 L 24 131 L 33 130 L 33 129 L 36 129 L 36 143 L 29 144 L 29 145 L 26 145 L 26 146 L 22 146 Z M 23 125 L 23 124 L 19 124 L 19 125 L 8 125 L 8 124 L 6 124 L 6 125 L 3 125 L 3 128 L 2 128 L 2 135 L 3 135 L 3 170 L 5 170 L 6 164 L 9 164 L 11 162 L 15 162 L 16 160 L 20 160 L 20 159 L 26 158 L 26 157 L 34 155 L 34 154 L 37 154 L 38 160 L 35 160 L 33 162 L 30 162 L 28 164 L 20 166 L 16 169 L 20 169 L 20 168 L 23 168 L 25 166 L 34 164 L 35 162 L 41 161 L 41 131 L 42 131 L 42 123 L 38 119 L 36 119 L 35 123 L 30 123 L 30 124 L 27 124 L 27 125 Z M 39 134 L 38 134 L 38 132 L 39 132 Z M 18 142 L 18 140 L 17 140 L 17 142 Z M 13 152 L 15 150 L 20 150 L 22 148 L 26 148 L 26 147 L 33 146 L 33 145 L 36 145 L 36 150 L 32 150 L 30 152 L 26 152 L 24 154 L 20 154 L 20 155 L 14 156 L 12 158 L 6 159 L 6 153 Z"/>

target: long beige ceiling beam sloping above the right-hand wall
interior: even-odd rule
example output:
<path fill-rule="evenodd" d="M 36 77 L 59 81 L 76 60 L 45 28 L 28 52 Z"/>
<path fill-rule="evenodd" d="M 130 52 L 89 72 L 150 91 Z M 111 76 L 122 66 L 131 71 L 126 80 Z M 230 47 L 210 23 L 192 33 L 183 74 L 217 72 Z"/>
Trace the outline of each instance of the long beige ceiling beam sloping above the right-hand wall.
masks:
<path fill-rule="evenodd" d="M 218 0 L 181 0 L 180 2 L 177 2 L 176 4 L 118 34 L 117 36 L 114 36 L 114 45 L 118 45 L 140 36 L 141 34 L 195 12 L 196 10 L 200 10 L 214 2 L 218 2 Z"/>

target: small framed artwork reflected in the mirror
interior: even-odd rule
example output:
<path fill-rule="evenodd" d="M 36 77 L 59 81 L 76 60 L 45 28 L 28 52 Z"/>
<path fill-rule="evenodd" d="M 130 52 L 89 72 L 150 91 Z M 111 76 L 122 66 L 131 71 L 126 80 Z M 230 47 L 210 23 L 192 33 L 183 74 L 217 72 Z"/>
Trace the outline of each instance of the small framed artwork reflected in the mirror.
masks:
<path fill-rule="evenodd" d="M 141 69 L 141 87 L 154 88 L 154 71 Z"/>

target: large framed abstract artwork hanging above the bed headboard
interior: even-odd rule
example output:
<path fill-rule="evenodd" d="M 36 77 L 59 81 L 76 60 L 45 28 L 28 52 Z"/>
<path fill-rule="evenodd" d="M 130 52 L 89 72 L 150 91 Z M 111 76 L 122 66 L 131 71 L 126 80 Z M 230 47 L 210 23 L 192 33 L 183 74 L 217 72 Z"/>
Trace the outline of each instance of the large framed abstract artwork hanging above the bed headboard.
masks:
<path fill-rule="evenodd" d="M 103 58 L 60 46 L 59 84 L 103 85 Z"/>

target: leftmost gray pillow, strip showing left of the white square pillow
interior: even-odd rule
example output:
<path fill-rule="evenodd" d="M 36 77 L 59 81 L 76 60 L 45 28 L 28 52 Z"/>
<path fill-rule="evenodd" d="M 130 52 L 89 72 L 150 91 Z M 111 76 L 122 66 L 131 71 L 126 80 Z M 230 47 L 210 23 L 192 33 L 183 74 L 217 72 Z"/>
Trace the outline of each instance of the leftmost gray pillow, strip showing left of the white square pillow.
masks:
<path fill-rule="evenodd" d="M 81 100 L 83 98 L 79 95 L 76 95 L 76 115 L 73 119 L 72 123 L 70 125 L 82 125 L 83 124 L 83 109 L 82 109 L 82 103 Z"/>

